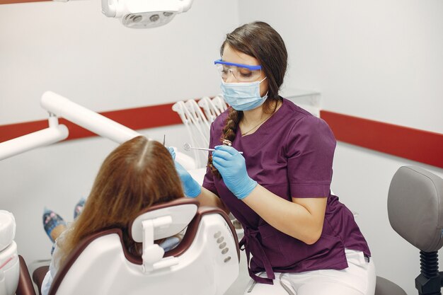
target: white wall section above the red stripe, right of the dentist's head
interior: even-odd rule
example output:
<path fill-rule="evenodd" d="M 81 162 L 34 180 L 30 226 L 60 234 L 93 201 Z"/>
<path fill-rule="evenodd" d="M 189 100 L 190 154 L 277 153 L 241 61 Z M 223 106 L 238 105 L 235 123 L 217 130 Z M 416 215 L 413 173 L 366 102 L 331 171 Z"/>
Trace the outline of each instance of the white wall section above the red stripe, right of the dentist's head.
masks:
<path fill-rule="evenodd" d="M 289 51 L 287 86 L 320 91 L 323 108 L 443 133 L 443 2 L 239 1 Z"/>

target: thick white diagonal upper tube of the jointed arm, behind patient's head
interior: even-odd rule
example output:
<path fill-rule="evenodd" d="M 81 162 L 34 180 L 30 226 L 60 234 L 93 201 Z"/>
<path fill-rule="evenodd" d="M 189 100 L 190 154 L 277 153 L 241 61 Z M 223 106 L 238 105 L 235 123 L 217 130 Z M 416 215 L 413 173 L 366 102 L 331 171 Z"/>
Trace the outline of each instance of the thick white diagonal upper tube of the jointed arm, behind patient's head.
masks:
<path fill-rule="evenodd" d="M 119 144 L 137 137 L 141 134 L 125 127 L 107 117 L 88 110 L 81 105 L 71 102 L 71 100 L 59 96 L 52 91 L 46 91 L 42 95 L 40 105 L 45 110 L 64 117 L 74 122 L 76 125 L 84 127 L 102 137 L 111 139 Z"/>

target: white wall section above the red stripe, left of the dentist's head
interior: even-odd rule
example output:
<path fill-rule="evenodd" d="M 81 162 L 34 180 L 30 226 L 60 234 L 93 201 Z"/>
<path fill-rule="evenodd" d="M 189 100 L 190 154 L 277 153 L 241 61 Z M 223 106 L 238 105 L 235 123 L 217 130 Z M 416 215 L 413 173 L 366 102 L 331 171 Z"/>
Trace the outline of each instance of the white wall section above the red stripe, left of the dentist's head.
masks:
<path fill-rule="evenodd" d="M 195 0 L 168 25 L 137 30 L 105 17 L 99 0 L 1 5 L 0 124 L 45 117 L 47 90 L 98 111 L 214 96 L 212 62 L 236 7 Z"/>

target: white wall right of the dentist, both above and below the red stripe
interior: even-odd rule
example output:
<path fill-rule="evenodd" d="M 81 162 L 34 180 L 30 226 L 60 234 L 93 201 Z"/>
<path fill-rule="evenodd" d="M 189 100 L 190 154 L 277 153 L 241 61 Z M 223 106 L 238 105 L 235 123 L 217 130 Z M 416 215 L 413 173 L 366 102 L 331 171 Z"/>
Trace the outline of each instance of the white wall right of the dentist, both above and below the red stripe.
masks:
<path fill-rule="evenodd" d="M 443 133 L 442 1 L 238 3 L 240 23 L 267 21 L 286 42 L 286 88 L 321 92 L 325 110 Z M 443 169 L 339 142 L 333 190 L 359 213 L 377 273 L 412 295 L 418 250 L 391 229 L 386 209 L 389 182 L 404 165 L 443 177 Z"/>

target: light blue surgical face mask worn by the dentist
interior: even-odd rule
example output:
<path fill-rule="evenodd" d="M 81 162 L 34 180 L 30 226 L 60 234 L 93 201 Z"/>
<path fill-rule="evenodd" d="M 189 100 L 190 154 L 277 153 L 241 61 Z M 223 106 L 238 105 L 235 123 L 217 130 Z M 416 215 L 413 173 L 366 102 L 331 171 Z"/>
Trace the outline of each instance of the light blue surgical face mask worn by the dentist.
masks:
<path fill-rule="evenodd" d="M 253 110 L 263 105 L 267 98 L 267 93 L 263 98 L 260 96 L 260 83 L 255 81 L 250 83 L 226 83 L 222 79 L 222 93 L 226 103 L 231 105 L 234 110 Z"/>

